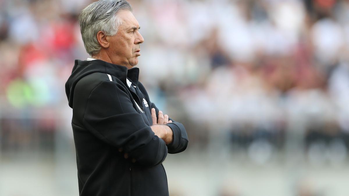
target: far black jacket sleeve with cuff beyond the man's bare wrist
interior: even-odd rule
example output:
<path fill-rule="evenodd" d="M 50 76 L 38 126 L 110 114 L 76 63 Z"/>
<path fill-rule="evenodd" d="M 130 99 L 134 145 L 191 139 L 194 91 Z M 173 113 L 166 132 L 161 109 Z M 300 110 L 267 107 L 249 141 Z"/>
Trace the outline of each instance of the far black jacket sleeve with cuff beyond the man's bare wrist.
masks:
<path fill-rule="evenodd" d="M 157 115 L 158 115 L 159 109 L 155 106 L 154 103 L 151 103 L 151 108 L 155 108 L 156 118 L 158 118 Z M 169 126 L 173 131 L 173 142 L 167 145 L 168 153 L 176 154 L 179 152 L 183 152 L 188 146 L 187 131 L 185 130 L 182 123 L 176 122 L 170 118 L 169 120 L 171 120 L 172 122 L 166 125 Z"/>

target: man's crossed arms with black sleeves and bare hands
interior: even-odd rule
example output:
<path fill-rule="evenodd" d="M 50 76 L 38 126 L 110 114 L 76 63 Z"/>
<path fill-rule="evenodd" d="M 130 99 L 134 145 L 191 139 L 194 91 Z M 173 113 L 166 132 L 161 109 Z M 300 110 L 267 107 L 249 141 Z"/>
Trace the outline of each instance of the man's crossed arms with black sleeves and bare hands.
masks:
<path fill-rule="evenodd" d="M 188 137 L 181 123 L 163 115 L 153 103 L 151 108 L 154 108 L 151 111 L 153 125 L 148 126 L 122 86 L 104 81 L 88 98 L 83 126 L 123 152 L 125 158 L 133 158 L 131 160 L 144 166 L 154 166 L 162 163 L 167 153 L 184 151 Z"/>

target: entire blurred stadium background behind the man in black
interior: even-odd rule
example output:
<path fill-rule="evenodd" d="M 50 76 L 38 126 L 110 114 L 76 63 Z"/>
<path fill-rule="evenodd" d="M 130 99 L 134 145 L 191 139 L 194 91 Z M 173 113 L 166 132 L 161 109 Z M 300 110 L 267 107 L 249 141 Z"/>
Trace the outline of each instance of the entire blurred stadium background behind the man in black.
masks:
<path fill-rule="evenodd" d="M 78 195 L 64 84 L 89 0 L 0 0 L 0 195 Z M 182 122 L 171 196 L 349 195 L 348 0 L 132 0 L 140 81 Z"/>

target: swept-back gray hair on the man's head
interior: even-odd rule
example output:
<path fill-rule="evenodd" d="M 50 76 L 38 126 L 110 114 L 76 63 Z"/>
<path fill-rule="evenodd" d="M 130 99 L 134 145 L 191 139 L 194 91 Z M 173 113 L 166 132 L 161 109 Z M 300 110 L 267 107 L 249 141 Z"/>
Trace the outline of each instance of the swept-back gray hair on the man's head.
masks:
<path fill-rule="evenodd" d="M 80 32 L 86 52 L 91 56 L 101 50 L 97 41 L 97 32 L 114 36 L 122 21 L 117 15 L 120 10 L 132 12 L 132 6 L 125 0 L 99 0 L 84 8 L 79 16 Z"/>

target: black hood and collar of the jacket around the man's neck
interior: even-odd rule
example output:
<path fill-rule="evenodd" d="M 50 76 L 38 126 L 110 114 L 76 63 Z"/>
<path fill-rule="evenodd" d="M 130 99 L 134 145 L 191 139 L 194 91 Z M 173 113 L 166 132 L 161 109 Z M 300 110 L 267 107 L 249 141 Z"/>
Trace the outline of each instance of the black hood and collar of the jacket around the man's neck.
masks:
<path fill-rule="evenodd" d="M 126 85 L 126 77 L 129 77 L 132 81 L 138 81 L 139 69 L 127 69 L 125 66 L 114 65 L 102 60 L 75 60 L 72 74 L 69 76 L 65 84 L 66 95 L 71 108 L 73 108 L 74 89 L 76 83 L 79 82 L 79 80 L 84 76 L 96 72 L 113 75 Z"/>

